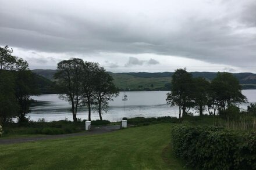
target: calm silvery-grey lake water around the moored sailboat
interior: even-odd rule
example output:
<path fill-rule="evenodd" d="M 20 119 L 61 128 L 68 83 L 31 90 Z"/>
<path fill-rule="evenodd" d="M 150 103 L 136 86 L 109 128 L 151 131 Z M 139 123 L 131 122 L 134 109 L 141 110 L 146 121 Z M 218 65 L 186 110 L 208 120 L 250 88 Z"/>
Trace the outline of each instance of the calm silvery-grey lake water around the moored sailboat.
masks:
<path fill-rule="evenodd" d="M 108 112 L 102 114 L 104 120 L 120 121 L 123 117 L 178 117 L 179 107 L 170 107 L 166 104 L 166 93 L 168 91 L 155 92 L 126 92 L 127 101 L 123 101 L 123 92 L 120 92 L 113 102 L 110 102 Z M 247 96 L 248 102 L 256 102 L 256 90 L 244 90 L 243 95 Z M 59 99 L 58 95 L 33 96 L 37 103 L 31 107 L 30 120 L 37 121 L 45 118 L 45 121 L 72 120 L 70 104 Z M 246 109 L 248 104 L 240 107 Z M 194 112 L 192 110 L 192 112 Z M 197 113 L 195 113 L 197 114 Z M 88 119 L 88 109 L 81 107 L 77 113 L 77 118 Z M 92 120 L 98 120 L 98 113 L 92 113 Z"/>

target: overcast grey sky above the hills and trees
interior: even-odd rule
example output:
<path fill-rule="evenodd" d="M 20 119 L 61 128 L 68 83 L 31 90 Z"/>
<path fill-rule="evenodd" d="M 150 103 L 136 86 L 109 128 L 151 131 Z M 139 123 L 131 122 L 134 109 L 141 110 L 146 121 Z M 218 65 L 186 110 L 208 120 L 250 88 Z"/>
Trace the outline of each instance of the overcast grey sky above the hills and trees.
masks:
<path fill-rule="evenodd" d="M 0 45 L 30 68 L 256 73 L 255 0 L 0 0 Z"/>

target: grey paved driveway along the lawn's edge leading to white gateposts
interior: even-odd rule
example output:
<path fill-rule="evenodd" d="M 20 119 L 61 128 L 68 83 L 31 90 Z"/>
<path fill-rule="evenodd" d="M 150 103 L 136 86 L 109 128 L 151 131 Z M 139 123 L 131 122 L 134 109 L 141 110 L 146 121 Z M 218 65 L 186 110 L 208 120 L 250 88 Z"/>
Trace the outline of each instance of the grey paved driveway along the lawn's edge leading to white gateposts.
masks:
<path fill-rule="evenodd" d="M 99 126 L 99 127 L 93 127 L 91 131 L 84 131 L 81 133 L 69 133 L 69 134 L 62 134 L 62 135 L 45 135 L 45 136 L 29 137 L 29 138 L 0 139 L 0 144 L 24 143 L 24 142 L 34 142 L 38 140 L 46 140 L 46 139 L 59 139 L 59 138 L 67 138 L 67 137 L 73 137 L 73 136 L 95 135 L 95 134 L 116 131 L 118 129 L 120 129 L 119 125 Z"/>

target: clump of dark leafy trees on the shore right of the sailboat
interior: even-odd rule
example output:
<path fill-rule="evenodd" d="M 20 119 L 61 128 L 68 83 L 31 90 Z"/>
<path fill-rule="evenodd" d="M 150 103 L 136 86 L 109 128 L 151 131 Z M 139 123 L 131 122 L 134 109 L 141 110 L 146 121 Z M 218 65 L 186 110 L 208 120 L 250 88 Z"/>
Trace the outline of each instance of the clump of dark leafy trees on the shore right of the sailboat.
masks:
<path fill-rule="evenodd" d="M 191 108 L 200 115 L 205 110 L 215 115 L 216 111 L 221 113 L 228 107 L 247 102 L 238 79 L 230 73 L 217 73 L 209 82 L 202 77 L 193 78 L 186 69 L 177 69 L 170 88 L 166 101 L 171 106 L 179 106 L 179 118 L 189 114 Z"/>

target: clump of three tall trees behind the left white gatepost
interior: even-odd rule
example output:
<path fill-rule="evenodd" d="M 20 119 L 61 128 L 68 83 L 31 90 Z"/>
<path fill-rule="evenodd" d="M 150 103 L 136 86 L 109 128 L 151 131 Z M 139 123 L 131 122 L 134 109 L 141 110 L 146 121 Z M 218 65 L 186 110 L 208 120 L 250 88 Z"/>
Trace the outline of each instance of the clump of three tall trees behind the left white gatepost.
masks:
<path fill-rule="evenodd" d="M 98 63 L 84 62 L 72 58 L 58 63 L 54 75 L 59 86 L 59 97 L 70 102 L 73 121 L 77 121 L 77 108 L 88 107 L 88 120 L 91 120 L 91 110 L 99 113 L 106 111 L 109 101 L 118 96 L 118 88 L 113 84 L 113 78 L 106 73 Z"/>

